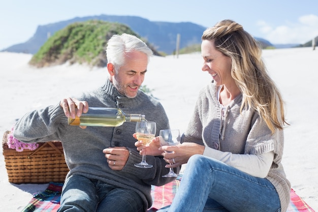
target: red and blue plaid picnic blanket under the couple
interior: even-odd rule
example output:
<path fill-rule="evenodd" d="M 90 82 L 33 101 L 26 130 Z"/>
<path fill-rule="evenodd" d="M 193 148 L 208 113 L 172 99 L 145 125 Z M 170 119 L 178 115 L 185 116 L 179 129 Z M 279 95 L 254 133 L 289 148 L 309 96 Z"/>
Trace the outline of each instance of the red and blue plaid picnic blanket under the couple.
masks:
<path fill-rule="evenodd" d="M 176 179 L 161 187 L 152 186 L 151 196 L 153 204 L 148 209 L 148 212 L 154 212 L 159 208 L 170 205 L 179 184 L 180 180 Z M 61 183 L 50 183 L 44 192 L 35 193 L 21 212 L 56 212 L 59 207 L 62 186 L 63 184 Z M 292 189 L 291 201 L 287 212 L 314 212 L 314 210 Z"/>

